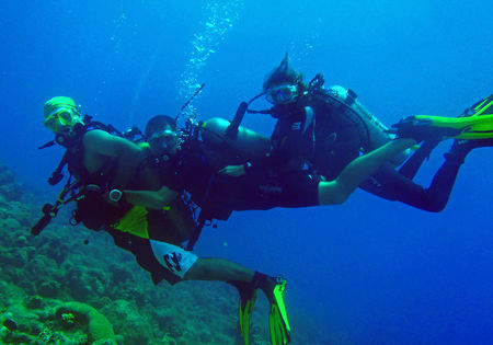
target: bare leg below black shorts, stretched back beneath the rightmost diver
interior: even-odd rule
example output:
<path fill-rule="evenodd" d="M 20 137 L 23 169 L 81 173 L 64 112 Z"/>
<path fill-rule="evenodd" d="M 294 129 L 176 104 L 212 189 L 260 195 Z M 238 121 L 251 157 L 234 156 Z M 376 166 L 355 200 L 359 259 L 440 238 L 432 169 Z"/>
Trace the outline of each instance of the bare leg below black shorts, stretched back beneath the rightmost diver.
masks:
<path fill-rule="evenodd" d="M 416 141 L 413 139 L 395 139 L 365 156 L 358 157 L 344 168 L 334 181 L 321 181 L 319 183 L 319 204 L 343 204 L 354 189 L 371 176 L 383 163 L 415 143 Z"/>

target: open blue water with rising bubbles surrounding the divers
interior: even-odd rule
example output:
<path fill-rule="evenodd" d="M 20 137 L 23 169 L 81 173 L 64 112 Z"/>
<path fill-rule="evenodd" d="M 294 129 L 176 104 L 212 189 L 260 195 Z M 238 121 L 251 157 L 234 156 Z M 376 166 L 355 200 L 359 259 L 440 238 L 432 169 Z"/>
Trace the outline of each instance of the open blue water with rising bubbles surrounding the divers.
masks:
<path fill-rule="evenodd" d="M 42 106 L 55 95 L 116 127 L 142 127 L 176 114 L 205 82 L 199 117 L 231 118 L 286 51 L 306 79 L 321 71 L 328 84 L 354 89 L 388 125 L 455 116 L 492 92 L 484 0 L 102 3 L 0 2 L 0 162 L 33 189 L 54 193 L 45 179 L 62 151 L 36 147 L 51 139 Z M 273 120 L 244 124 L 268 134 Z M 449 146 L 419 182 L 429 183 Z M 282 273 L 293 332 L 314 320 L 319 342 L 492 343 L 492 154 L 468 157 L 440 214 L 358 191 L 343 206 L 236 214 L 205 231 L 197 252 Z"/>

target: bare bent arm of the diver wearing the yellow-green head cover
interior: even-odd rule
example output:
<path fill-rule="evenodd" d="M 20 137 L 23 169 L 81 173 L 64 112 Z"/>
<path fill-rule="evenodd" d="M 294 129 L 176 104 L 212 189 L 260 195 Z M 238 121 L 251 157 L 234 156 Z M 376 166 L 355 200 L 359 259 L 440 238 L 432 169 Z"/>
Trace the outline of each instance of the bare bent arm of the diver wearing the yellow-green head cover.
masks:
<path fill-rule="evenodd" d="M 88 131 L 83 137 L 83 145 L 90 152 L 116 158 L 116 174 L 112 186 L 118 189 L 128 184 L 144 159 L 142 150 L 137 145 L 100 129 Z"/>

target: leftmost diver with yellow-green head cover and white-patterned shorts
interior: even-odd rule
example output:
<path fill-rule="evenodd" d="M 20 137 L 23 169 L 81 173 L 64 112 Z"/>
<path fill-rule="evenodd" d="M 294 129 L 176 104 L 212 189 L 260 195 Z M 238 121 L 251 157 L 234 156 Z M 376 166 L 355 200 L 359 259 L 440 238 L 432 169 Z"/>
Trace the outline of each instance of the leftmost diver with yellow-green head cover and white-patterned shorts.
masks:
<path fill-rule="evenodd" d="M 56 184 L 62 179 L 65 165 L 70 177 L 57 203 L 43 208 L 45 216 L 33 227 L 33 234 L 38 234 L 62 205 L 77 202 L 72 220 L 93 230 L 107 231 L 116 245 L 136 256 L 154 284 L 162 279 L 171 285 L 183 280 L 219 280 L 237 287 L 245 344 L 249 344 L 250 314 L 256 291 L 262 289 L 271 301 L 273 344 L 289 342 L 290 329 L 283 302 L 286 280 L 223 258 L 197 257 L 185 250 L 182 243 L 190 240 L 196 228 L 193 211 L 177 193 L 161 187 L 162 176 L 156 175 L 156 163 L 147 164 L 150 160 L 145 149 L 111 135 L 104 130 L 108 126 L 92 122 L 90 116 L 82 117 L 70 97 L 47 101 L 44 115 L 44 124 L 55 134 L 55 141 L 67 149 L 49 182 Z M 154 134 L 151 141 L 173 152 L 173 138 L 167 137 L 168 133 Z M 148 208 L 142 202 L 144 191 L 158 191 L 161 205 Z"/>

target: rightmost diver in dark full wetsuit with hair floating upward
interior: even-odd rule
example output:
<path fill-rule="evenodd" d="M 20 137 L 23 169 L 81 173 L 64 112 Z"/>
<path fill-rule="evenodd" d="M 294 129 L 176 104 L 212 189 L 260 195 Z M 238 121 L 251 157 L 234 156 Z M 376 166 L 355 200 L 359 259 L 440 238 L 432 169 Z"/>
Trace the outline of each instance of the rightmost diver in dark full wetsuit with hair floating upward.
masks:
<path fill-rule="evenodd" d="M 356 93 L 342 87 L 324 89 L 322 84 L 321 74 L 308 85 L 303 83 L 302 74 L 290 68 L 286 54 L 280 65 L 266 77 L 260 94 L 265 95 L 273 107 L 256 112 L 271 114 L 277 119 L 267 154 L 248 165 L 228 165 L 222 173 L 241 176 L 249 171 L 272 166 L 302 171 L 307 164 L 313 174 L 333 180 L 362 153 L 391 140 L 387 127 L 356 100 Z M 458 118 L 423 115 L 394 125 L 397 137 L 424 140 L 422 147 L 399 171 L 395 166 L 404 162 L 408 157 L 405 152 L 380 166 L 362 182 L 360 187 L 389 200 L 399 200 L 427 211 L 442 211 L 467 154 L 474 148 L 493 146 L 492 104 L 493 96 L 490 96 Z M 215 130 L 225 131 L 219 128 Z M 445 162 L 431 186 L 424 188 L 415 184 L 412 179 L 424 159 L 447 137 L 456 140 L 445 153 Z"/>

